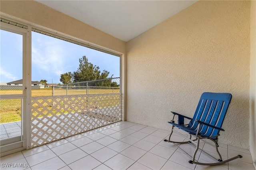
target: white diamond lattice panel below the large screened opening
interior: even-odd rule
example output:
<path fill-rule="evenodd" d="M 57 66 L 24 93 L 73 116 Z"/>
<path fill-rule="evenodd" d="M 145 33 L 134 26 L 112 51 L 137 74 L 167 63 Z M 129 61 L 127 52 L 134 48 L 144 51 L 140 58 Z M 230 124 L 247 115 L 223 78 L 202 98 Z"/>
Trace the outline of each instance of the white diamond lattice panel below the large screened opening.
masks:
<path fill-rule="evenodd" d="M 31 146 L 121 121 L 121 95 L 31 97 Z"/>

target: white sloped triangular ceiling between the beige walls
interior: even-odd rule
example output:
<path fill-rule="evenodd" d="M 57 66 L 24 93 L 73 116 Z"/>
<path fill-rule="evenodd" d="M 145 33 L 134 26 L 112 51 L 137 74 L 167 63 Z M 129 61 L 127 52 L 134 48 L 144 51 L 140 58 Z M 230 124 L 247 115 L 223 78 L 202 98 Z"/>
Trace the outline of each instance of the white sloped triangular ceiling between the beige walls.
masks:
<path fill-rule="evenodd" d="M 124 42 L 198 0 L 36 0 Z"/>

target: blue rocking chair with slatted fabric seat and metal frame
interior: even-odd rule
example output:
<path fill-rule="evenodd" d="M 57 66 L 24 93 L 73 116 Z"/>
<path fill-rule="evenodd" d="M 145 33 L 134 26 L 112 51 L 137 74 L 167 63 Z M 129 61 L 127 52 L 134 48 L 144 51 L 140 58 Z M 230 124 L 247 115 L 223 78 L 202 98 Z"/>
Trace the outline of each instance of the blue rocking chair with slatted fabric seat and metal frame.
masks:
<path fill-rule="evenodd" d="M 241 155 L 235 156 L 233 158 L 230 158 L 228 160 L 223 160 L 220 155 L 220 152 L 218 151 L 218 136 L 220 136 L 220 130 L 224 131 L 222 129 L 222 123 L 224 121 L 225 115 L 228 110 L 228 106 L 230 104 L 230 101 L 232 99 L 232 95 L 230 93 L 203 93 L 201 95 L 200 101 L 198 103 L 198 106 L 196 107 L 196 112 L 194 114 L 193 118 L 186 117 L 184 115 L 180 115 L 175 112 L 173 113 L 172 121 L 168 122 L 172 125 L 172 132 L 173 130 L 178 132 L 174 129 L 174 127 L 179 128 L 185 132 L 188 132 L 190 135 L 189 138 L 187 136 L 184 136 L 188 141 L 185 142 L 175 142 L 171 141 L 170 138 L 172 136 L 172 132 L 169 136 L 169 139 L 165 139 L 166 142 L 172 142 L 174 144 L 184 144 L 189 143 L 192 144 L 192 146 L 195 146 L 195 151 L 193 154 L 193 157 L 188 154 L 192 158 L 192 160 L 188 161 L 191 164 L 199 164 L 199 165 L 220 165 L 224 164 L 226 162 L 229 162 L 231 160 L 242 158 Z M 174 123 L 174 117 L 175 115 L 178 116 L 178 124 Z M 184 125 L 184 118 L 190 120 L 190 122 L 187 125 Z M 195 136 L 196 139 L 191 139 L 192 136 Z M 216 151 L 218 155 L 220 156 L 220 159 L 214 158 L 209 153 L 205 152 L 204 150 L 199 148 L 200 139 L 210 139 L 214 142 L 214 146 L 216 147 Z M 207 142 L 205 140 L 204 142 Z M 209 143 L 209 142 L 207 142 Z M 211 144 L 211 143 L 209 143 Z M 211 144 L 212 145 L 212 144 Z M 178 145 L 176 145 L 178 146 Z M 178 146 L 179 147 L 179 146 Z M 180 148 L 180 147 L 179 147 Z M 180 148 L 181 149 L 181 148 Z M 195 160 L 196 152 L 201 150 L 202 152 L 206 153 L 208 156 L 216 159 L 218 162 L 216 163 L 202 163 Z M 184 151 L 184 150 L 183 150 Z M 185 152 L 185 151 L 184 151 Z M 185 152 L 186 153 L 186 152 Z M 187 154 L 187 153 L 186 153 Z"/>

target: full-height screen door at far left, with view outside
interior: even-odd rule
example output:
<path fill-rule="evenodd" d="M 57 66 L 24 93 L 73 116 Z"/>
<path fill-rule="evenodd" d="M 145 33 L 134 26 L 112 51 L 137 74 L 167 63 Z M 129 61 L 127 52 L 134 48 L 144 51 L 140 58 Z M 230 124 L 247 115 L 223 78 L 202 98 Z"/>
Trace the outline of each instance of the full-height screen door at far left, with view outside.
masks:
<path fill-rule="evenodd" d="M 2 21 L 2 19 L 1 19 Z M 7 21 L 5 23 L 8 23 Z M 8 23 L 21 27 L 17 23 Z M 0 147 L 1 153 L 22 146 L 24 32 L 3 26 L 0 30 Z M 24 30 L 23 30 L 24 31 Z M 14 145 L 12 145 L 14 144 Z M 4 147 L 4 148 L 3 148 Z"/>

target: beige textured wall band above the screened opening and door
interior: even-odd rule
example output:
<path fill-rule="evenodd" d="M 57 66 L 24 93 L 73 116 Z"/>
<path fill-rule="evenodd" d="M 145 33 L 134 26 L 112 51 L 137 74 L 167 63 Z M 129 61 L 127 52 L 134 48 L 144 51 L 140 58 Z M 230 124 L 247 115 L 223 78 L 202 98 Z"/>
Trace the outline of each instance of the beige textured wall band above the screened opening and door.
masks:
<path fill-rule="evenodd" d="M 120 53 L 125 52 L 125 42 L 34 0 L 1 1 L 0 11 Z"/>

